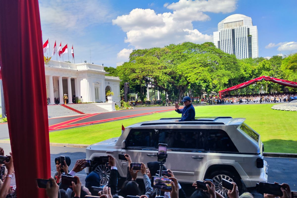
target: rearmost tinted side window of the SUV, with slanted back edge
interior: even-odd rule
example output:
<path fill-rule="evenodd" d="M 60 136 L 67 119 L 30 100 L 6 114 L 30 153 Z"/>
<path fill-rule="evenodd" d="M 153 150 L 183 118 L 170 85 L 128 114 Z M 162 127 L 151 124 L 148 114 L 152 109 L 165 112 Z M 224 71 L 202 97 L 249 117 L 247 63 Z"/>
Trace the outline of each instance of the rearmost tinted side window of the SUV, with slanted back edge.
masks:
<path fill-rule="evenodd" d="M 207 130 L 206 151 L 238 152 L 228 134 L 220 129 Z"/>

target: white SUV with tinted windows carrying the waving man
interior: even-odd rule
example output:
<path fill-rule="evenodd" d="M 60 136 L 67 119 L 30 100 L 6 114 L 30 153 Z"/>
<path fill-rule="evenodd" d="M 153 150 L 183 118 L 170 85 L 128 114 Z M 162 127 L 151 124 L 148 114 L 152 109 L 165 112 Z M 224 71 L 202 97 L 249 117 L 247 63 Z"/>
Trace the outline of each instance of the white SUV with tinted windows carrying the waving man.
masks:
<path fill-rule="evenodd" d="M 109 170 L 99 157 L 112 155 L 121 177 L 127 174 L 127 161 L 118 154 L 129 154 L 133 162 L 157 161 L 158 143 L 167 144 L 166 167 L 179 182 L 212 179 L 216 190 L 226 195 L 222 178 L 234 181 L 241 188 L 254 187 L 267 181 L 267 163 L 260 134 L 244 123 L 245 118 L 198 117 L 193 121 L 175 122 L 177 118 L 162 118 L 128 126 L 120 137 L 105 140 L 86 148 L 86 159 L 93 160 L 88 174 L 101 174 L 101 183 L 109 179 Z M 180 119 L 180 118 L 178 118 Z M 139 178 L 142 178 L 139 175 Z"/>

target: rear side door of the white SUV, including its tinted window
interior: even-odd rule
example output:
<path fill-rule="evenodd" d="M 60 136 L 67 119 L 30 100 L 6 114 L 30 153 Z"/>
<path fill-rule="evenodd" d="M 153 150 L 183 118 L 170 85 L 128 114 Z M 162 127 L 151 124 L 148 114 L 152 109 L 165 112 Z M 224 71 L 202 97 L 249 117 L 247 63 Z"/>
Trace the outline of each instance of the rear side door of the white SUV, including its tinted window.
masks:
<path fill-rule="evenodd" d="M 204 151 L 203 129 L 159 129 L 159 143 L 167 144 L 166 168 L 181 182 L 193 182 L 204 172 L 206 151 Z M 202 175 L 202 174 L 201 174 Z M 200 176 L 201 177 L 201 176 Z"/>

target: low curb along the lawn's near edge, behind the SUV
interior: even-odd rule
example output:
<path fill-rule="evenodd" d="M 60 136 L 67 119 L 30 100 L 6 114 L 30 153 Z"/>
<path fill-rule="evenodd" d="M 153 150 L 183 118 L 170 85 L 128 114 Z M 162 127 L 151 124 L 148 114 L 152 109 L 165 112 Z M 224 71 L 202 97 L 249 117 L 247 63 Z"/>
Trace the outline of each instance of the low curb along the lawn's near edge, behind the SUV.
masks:
<path fill-rule="evenodd" d="M 0 143 L 10 144 L 10 140 L 0 140 Z M 90 144 L 65 144 L 65 143 L 50 143 L 50 146 L 67 146 L 67 147 L 80 147 L 87 148 Z M 264 157 L 285 157 L 285 158 L 297 158 L 297 153 L 265 153 Z"/>

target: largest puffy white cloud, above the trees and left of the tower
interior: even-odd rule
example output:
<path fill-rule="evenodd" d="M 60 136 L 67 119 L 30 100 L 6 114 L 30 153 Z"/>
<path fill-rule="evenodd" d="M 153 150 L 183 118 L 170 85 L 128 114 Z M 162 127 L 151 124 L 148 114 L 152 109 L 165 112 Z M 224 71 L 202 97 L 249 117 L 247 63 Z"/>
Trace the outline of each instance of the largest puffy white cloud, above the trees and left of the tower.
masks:
<path fill-rule="evenodd" d="M 180 0 L 163 6 L 172 12 L 156 13 L 153 9 L 133 9 L 128 15 L 112 20 L 126 32 L 124 42 L 135 49 L 163 47 L 186 41 L 203 43 L 213 41 L 213 36 L 194 29 L 193 21 L 206 21 L 204 12 L 227 13 L 236 9 L 237 0 Z"/>

